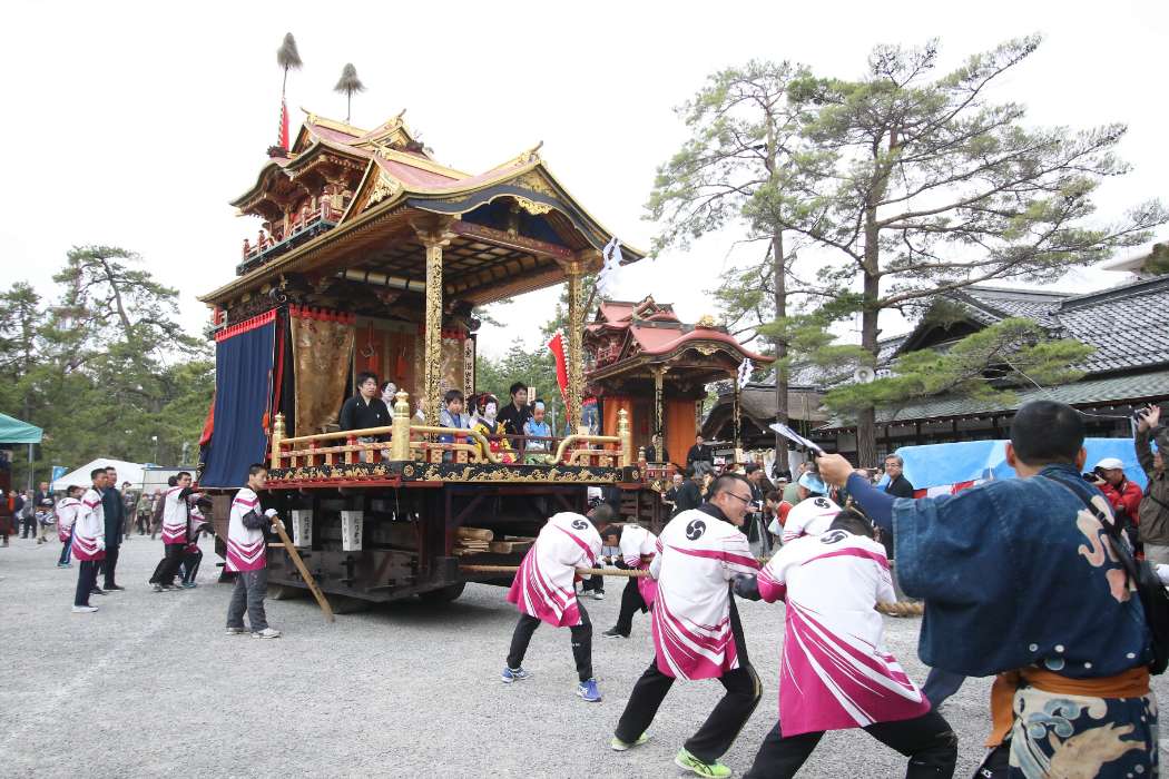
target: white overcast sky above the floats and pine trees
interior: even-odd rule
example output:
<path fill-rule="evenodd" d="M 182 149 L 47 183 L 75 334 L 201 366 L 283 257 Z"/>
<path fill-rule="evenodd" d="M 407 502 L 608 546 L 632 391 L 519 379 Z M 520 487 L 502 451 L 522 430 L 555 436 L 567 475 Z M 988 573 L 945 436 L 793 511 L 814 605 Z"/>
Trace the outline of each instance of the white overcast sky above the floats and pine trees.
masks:
<path fill-rule="evenodd" d="M 276 140 L 275 51 L 289 30 L 305 63 L 289 77 L 293 133 L 297 106 L 344 118 L 332 85 L 353 62 L 368 88 L 354 97 L 353 124 L 373 127 L 406 107 L 437 159 L 470 173 L 544 140 L 544 159 L 572 193 L 641 248 L 653 234 L 641 217 L 655 168 L 685 137 L 672 107 L 708 74 L 752 57 L 856 77 L 879 42 L 938 36 L 946 69 L 1040 32 L 1044 46 L 999 95 L 1026 103 L 1035 124 L 1129 125 L 1120 152 L 1134 171 L 1105 185 L 1101 217 L 1165 194 L 1169 181 L 1169 4 L 1153 0 L 9 2 L 0 28 L 0 283 L 49 291 L 70 246 L 119 245 L 181 288 L 184 321 L 201 328 L 207 312 L 195 295 L 233 277 L 241 241 L 256 230 L 228 201 L 251 186 Z M 735 262 L 735 237 L 638 263 L 616 297 L 652 293 L 689 321 L 714 313 L 704 291 Z M 1126 279 L 1086 271 L 1063 286 Z M 498 355 L 516 336 L 534 345 L 555 297 L 497 308 L 506 326 L 484 327 L 480 349 Z"/>

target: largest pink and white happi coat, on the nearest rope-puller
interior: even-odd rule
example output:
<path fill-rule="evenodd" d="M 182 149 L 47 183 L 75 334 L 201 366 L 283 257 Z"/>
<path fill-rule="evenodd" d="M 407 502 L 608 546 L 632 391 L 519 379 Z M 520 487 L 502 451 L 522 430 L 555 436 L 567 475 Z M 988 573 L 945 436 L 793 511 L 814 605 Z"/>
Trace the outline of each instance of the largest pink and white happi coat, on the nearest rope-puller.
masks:
<path fill-rule="evenodd" d="M 844 530 L 798 538 L 759 575 L 763 600 L 787 601 L 780 662 L 784 736 L 912 719 L 929 702 L 883 645 L 874 610 L 892 603 L 885 548 Z"/>

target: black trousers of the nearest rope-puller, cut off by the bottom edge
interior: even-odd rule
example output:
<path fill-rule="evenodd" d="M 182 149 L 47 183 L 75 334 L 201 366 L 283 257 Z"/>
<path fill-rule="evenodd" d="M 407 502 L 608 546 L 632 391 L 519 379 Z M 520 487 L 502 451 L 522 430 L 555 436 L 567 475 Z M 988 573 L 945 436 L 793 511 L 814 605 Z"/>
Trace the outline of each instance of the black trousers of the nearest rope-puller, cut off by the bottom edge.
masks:
<path fill-rule="evenodd" d="M 824 732 L 800 733 L 783 737 L 775 723 L 759 746 L 755 763 L 743 779 L 784 779 L 796 775 Z M 929 711 L 914 719 L 878 722 L 865 728 L 865 732 L 886 746 L 891 746 L 909 758 L 906 779 L 949 779 L 957 761 L 957 736 L 949 723 L 936 711 Z"/>

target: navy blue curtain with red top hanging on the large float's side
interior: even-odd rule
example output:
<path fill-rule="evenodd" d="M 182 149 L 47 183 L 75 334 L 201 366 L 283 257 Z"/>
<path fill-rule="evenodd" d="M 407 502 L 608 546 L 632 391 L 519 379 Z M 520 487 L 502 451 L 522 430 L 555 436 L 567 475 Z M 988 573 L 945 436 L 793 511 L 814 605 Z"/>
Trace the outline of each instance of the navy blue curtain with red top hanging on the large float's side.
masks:
<path fill-rule="evenodd" d="M 229 328 L 215 343 L 215 426 L 203 448 L 205 487 L 242 487 L 263 462 L 271 408 L 275 312 Z"/>

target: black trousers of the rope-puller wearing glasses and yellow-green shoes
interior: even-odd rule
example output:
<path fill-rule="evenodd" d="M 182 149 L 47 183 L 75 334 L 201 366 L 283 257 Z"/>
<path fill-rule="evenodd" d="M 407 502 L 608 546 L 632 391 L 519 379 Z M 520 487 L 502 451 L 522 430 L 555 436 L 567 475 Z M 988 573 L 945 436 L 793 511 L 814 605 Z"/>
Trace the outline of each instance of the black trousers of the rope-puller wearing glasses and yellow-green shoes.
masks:
<path fill-rule="evenodd" d="M 762 694 L 759 674 L 747 659 L 747 647 L 742 640 L 742 626 L 734 600 L 731 601 L 731 631 L 739 653 L 739 667 L 719 676 L 719 682 L 727 694 L 706 717 L 698 732 L 686 739 L 685 744 L 686 751 L 703 763 L 714 763 L 726 754 L 738 738 L 739 731 L 750 719 Z M 629 696 L 629 703 L 625 704 L 614 735 L 625 743 L 637 740 L 653 722 L 653 716 L 671 687 L 673 676 L 666 676 L 658 670 L 655 656 L 650 661 L 650 667 L 634 684 L 634 691 Z"/>

